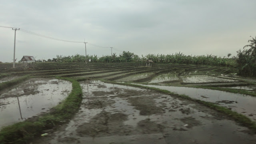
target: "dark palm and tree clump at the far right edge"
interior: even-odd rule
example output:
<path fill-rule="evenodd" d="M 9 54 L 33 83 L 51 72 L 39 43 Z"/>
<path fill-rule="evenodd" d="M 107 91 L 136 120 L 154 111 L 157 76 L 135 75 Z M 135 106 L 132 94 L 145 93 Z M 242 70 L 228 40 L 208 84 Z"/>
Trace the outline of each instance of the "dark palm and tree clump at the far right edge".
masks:
<path fill-rule="evenodd" d="M 238 50 L 238 71 L 241 76 L 256 77 L 256 36 L 252 40 L 248 40 L 250 44 L 244 46 L 249 47 L 248 50 Z"/>

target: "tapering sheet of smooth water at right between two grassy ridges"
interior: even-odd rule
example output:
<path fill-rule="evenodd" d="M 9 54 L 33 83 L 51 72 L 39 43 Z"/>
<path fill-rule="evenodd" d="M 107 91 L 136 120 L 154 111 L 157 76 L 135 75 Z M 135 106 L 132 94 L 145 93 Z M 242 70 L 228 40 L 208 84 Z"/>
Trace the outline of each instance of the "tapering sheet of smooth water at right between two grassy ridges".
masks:
<path fill-rule="evenodd" d="M 191 98 L 204 100 L 206 102 L 213 102 L 220 106 L 225 106 L 231 110 L 248 116 L 249 118 L 256 120 L 256 98 L 245 94 L 234 94 L 230 92 L 224 92 L 220 90 L 209 90 L 203 88 L 186 88 L 177 86 L 156 86 L 156 85 L 144 85 L 154 88 L 160 88 L 175 92 L 177 94 L 185 94 Z"/>

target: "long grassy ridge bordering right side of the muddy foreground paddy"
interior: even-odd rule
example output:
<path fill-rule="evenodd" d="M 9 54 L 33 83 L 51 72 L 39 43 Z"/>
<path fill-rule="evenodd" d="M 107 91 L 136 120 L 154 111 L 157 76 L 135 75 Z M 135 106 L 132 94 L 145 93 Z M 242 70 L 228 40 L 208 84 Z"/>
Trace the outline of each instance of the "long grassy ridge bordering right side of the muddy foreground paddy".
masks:
<path fill-rule="evenodd" d="M 175 94 L 173 92 L 170 92 L 168 90 L 162 90 L 159 88 L 153 88 L 153 87 L 148 87 L 148 86 L 141 86 L 141 85 L 137 85 L 137 84 L 130 84 L 130 83 L 119 83 L 119 82 L 113 82 L 113 81 L 106 81 L 106 80 L 101 80 L 102 82 L 108 82 L 108 83 L 112 83 L 112 84 L 119 84 L 119 85 L 125 85 L 125 86 L 134 86 L 134 87 L 140 87 L 140 88 L 148 88 L 150 90 L 156 90 L 159 92 L 162 92 L 164 94 L 169 94 L 171 96 L 177 96 L 179 98 L 184 98 L 186 100 L 191 100 L 194 102 L 198 102 L 199 104 L 203 104 L 204 106 L 207 106 L 209 108 L 212 108 L 214 110 L 217 110 L 221 113 L 223 113 L 224 115 L 234 119 L 236 122 L 238 122 L 239 124 L 241 124 L 242 126 L 246 126 L 247 128 L 250 128 L 250 130 L 252 130 L 253 132 L 256 132 L 256 122 L 252 121 L 250 118 L 239 114 L 237 112 L 234 112 L 230 109 L 227 109 L 223 106 L 218 106 L 212 102 L 206 102 L 203 100 L 196 100 L 193 98 L 190 98 L 189 96 L 186 96 L 184 94 Z"/>

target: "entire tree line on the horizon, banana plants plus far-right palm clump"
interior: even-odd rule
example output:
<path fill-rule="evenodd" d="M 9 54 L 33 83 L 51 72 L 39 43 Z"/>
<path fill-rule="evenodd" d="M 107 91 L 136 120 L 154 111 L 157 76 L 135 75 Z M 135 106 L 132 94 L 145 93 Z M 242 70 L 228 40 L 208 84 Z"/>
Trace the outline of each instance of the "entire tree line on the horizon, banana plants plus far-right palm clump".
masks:
<path fill-rule="evenodd" d="M 153 60 L 155 63 L 173 64 L 200 64 L 208 66 L 228 66 L 237 68 L 241 76 L 256 77 L 256 37 L 248 40 L 250 44 L 244 46 L 244 50 L 238 50 L 237 56 L 230 58 L 231 54 L 220 57 L 212 54 L 200 56 L 186 56 L 182 53 L 175 54 L 147 54 L 138 56 L 133 52 L 123 51 L 122 54 L 112 56 L 87 55 L 87 62 L 145 62 Z M 245 49 L 249 47 L 249 49 Z M 48 59 L 48 62 L 86 62 L 86 56 L 76 54 L 72 56 L 57 55 L 56 58 Z"/>

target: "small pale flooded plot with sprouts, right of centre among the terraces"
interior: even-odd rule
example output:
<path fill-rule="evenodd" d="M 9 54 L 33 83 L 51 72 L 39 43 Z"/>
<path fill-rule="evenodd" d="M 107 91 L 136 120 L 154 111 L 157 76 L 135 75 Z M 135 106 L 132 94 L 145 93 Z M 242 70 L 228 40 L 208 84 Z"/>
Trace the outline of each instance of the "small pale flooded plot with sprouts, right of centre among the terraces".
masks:
<path fill-rule="evenodd" d="M 185 83 L 206 83 L 206 82 L 238 82 L 238 80 L 230 80 L 225 78 L 217 78 L 206 75 L 186 75 L 180 76 Z"/>

